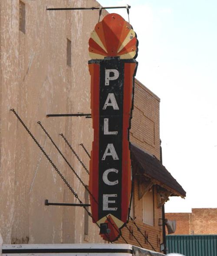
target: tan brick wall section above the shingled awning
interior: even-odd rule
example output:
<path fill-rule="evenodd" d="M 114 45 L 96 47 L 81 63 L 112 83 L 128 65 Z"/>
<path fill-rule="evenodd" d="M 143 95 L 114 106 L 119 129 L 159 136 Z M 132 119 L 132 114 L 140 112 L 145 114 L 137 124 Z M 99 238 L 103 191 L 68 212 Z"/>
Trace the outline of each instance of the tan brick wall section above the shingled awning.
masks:
<path fill-rule="evenodd" d="M 160 99 L 135 80 L 130 141 L 160 159 Z"/>

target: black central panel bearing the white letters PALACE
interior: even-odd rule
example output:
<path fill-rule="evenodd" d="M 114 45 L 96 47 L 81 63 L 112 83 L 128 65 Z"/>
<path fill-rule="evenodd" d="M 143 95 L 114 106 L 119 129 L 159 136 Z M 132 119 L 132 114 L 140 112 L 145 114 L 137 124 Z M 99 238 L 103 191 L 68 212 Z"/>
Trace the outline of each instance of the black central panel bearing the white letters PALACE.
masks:
<path fill-rule="evenodd" d="M 121 219 L 123 81 L 124 63 L 120 59 L 101 60 L 99 219 L 109 213 Z"/>

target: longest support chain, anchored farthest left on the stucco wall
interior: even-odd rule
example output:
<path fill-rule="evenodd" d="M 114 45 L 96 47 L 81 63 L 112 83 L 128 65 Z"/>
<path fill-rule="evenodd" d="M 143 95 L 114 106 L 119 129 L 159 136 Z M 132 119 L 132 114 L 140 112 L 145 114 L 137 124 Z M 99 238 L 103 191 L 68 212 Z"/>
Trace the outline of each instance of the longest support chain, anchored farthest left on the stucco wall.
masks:
<path fill-rule="evenodd" d="M 14 109 L 11 109 L 10 111 L 12 111 L 15 116 L 17 117 L 17 119 L 20 121 L 20 123 L 22 123 L 23 127 L 26 129 L 26 131 L 30 134 L 31 138 L 34 140 L 34 142 L 36 143 L 36 145 L 39 147 L 39 149 L 42 151 L 42 153 L 46 156 L 46 159 L 49 161 L 49 163 L 51 163 L 51 165 L 53 166 L 54 170 L 56 170 L 56 172 L 59 174 L 59 176 L 61 177 L 61 179 L 64 181 L 64 183 L 67 185 L 67 187 L 69 188 L 69 190 L 72 192 L 72 194 L 75 196 L 76 199 L 79 200 L 80 204 L 83 204 L 82 201 L 79 199 L 78 194 L 72 189 L 72 187 L 70 186 L 70 184 L 66 181 L 65 177 L 62 175 L 62 173 L 60 173 L 60 171 L 58 170 L 58 168 L 56 167 L 56 165 L 53 163 L 53 161 L 49 158 L 49 156 L 47 155 L 47 153 L 45 152 L 45 150 L 43 150 L 43 147 L 38 143 L 38 141 L 36 140 L 36 138 L 33 136 L 33 134 L 30 132 L 30 130 L 27 128 L 27 126 L 25 125 L 25 123 L 23 123 L 23 120 L 20 118 L 20 116 L 18 116 L 18 114 L 16 113 L 16 111 Z M 88 209 L 86 209 L 85 206 L 82 206 L 85 211 L 88 213 L 88 215 L 93 219 L 92 214 L 88 211 Z M 95 219 L 93 219 L 93 221 L 96 223 L 96 225 L 100 228 L 99 224 L 95 221 Z M 107 234 L 105 234 L 107 236 Z M 107 236 L 107 238 L 109 239 L 109 236 Z M 112 241 L 109 242 L 112 243 Z"/>

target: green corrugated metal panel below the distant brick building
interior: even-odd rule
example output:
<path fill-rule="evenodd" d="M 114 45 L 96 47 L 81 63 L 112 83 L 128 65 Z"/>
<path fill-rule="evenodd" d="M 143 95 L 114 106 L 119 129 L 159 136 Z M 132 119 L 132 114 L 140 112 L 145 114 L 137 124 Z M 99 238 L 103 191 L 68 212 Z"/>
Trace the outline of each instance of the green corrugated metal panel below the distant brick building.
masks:
<path fill-rule="evenodd" d="M 168 235 L 168 253 L 184 256 L 217 256 L 217 235 Z"/>

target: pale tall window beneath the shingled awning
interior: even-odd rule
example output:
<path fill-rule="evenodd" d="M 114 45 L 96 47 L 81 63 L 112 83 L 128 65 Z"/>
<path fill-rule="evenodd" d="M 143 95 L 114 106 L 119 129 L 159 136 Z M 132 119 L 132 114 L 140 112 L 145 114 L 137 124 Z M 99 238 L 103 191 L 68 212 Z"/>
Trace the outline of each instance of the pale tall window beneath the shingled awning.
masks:
<path fill-rule="evenodd" d="M 154 226 L 154 190 L 153 187 L 142 198 L 142 221 Z"/>

